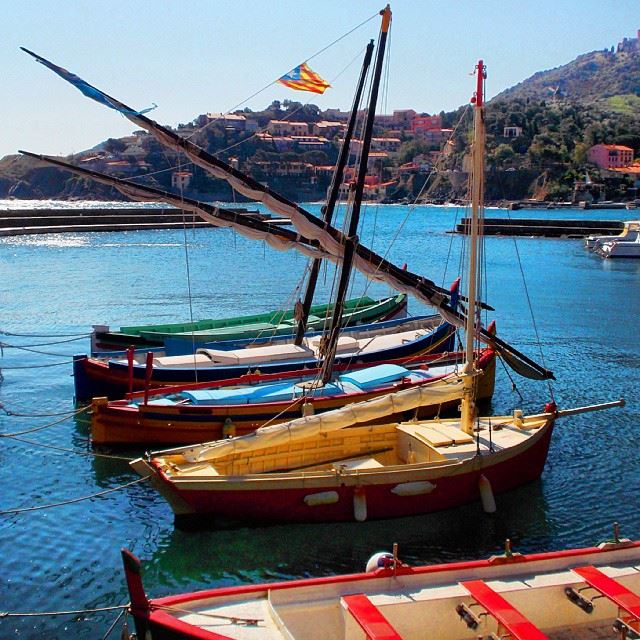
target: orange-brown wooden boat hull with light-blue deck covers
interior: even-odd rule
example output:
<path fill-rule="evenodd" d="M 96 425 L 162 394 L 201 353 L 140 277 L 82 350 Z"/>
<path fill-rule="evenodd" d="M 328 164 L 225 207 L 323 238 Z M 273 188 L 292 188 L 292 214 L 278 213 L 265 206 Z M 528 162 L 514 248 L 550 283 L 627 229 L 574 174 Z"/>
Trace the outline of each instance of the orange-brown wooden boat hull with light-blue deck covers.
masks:
<path fill-rule="evenodd" d="M 216 384 L 199 383 L 174 389 L 140 391 L 124 400 L 94 398 L 91 403 L 91 441 L 94 445 L 196 444 L 243 435 L 262 425 L 278 424 L 301 415 L 318 414 L 352 402 L 378 398 L 414 386 L 430 385 L 462 366 L 461 353 L 434 354 L 385 362 L 373 367 L 335 370 L 334 379 L 319 384 L 320 369 L 282 374 L 244 376 Z M 495 352 L 483 350 L 477 399 L 493 395 Z M 427 405 L 385 420 L 446 415 L 457 401 Z"/>

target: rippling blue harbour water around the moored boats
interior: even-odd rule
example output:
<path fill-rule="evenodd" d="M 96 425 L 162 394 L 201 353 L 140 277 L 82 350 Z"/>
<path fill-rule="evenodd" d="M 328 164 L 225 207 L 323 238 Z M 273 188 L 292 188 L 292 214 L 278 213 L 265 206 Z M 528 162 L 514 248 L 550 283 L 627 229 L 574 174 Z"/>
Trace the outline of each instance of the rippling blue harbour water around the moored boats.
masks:
<path fill-rule="evenodd" d="M 311 207 L 314 211 L 318 207 Z M 394 262 L 448 285 L 458 273 L 461 238 L 447 233 L 463 211 L 418 207 L 368 209 L 363 240 Z M 497 213 L 487 213 L 491 217 Z M 519 217 L 629 219 L 627 211 L 529 211 Z M 400 232 L 398 229 L 402 226 Z M 0 433 L 48 425 L 70 412 L 71 357 L 91 324 L 238 315 L 291 306 L 305 260 L 226 230 L 134 231 L 0 239 Z M 399 543 L 411 563 L 484 557 L 505 538 L 518 551 L 590 545 L 610 536 L 640 537 L 640 261 L 605 262 L 578 240 L 489 238 L 484 298 L 500 334 L 538 357 L 528 297 L 545 362 L 556 372 L 560 408 L 624 396 L 624 409 L 558 422 L 542 479 L 498 498 L 493 516 L 471 505 L 403 520 L 331 526 L 273 526 L 226 531 L 176 530 L 164 501 L 146 485 L 65 506 L 0 515 L 0 611 L 88 610 L 127 602 L 119 549 L 138 554 L 153 596 L 237 584 L 362 570 L 375 551 Z M 190 289 L 186 277 L 188 253 Z M 456 256 L 449 258 L 448 256 Z M 319 299 L 328 297 L 331 274 Z M 357 281 L 354 294 L 362 291 Z M 370 295 L 388 293 L 374 285 Z M 190 308 L 189 300 L 192 307 Z M 412 302 L 413 313 L 424 311 Z M 11 333 L 34 334 L 19 337 Z M 65 340 L 72 340 L 64 342 Z M 51 344 L 59 342 L 59 344 Z M 8 346 L 7 346 L 8 345 Z M 32 351 L 16 349 L 23 345 Z M 42 346 L 37 346 L 42 345 Z M 37 352 L 45 352 L 37 353 Z M 539 409 L 546 383 L 517 380 L 499 367 L 495 411 Z M 125 460 L 91 455 L 82 418 L 19 437 L 0 450 L 0 511 L 93 495 L 136 479 Z M 55 448 L 53 448 L 55 447 Z M 117 455 L 133 455 L 125 452 Z M 101 638 L 117 612 L 0 618 L 0 637 Z M 118 637 L 119 628 L 110 637 Z"/>

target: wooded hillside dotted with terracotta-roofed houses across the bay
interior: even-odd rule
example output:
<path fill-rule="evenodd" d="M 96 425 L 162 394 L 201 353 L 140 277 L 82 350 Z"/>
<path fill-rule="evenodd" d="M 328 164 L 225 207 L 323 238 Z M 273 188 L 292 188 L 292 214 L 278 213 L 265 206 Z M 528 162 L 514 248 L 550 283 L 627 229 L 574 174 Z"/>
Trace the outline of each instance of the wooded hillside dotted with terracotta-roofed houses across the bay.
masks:
<path fill-rule="evenodd" d="M 377 159 L 371 168 L 376 181 L 370 197 L 388 201 L 412 200 L 418 194 L 434 200 L 462 197 L 466 183 L 458 178 L 468 139 L 454 140 L 454 151 L 444 164 L 438 156 L 446 132 L 457 127 L 465 111 L 461 107 L 429 116 L 399 110 L 376 116 L 378 138 L 374 137 L 372 150 Z M 406 120 L 409 112 L 412 121 Z M 336 109 L 322 112 L 312 104 L 285 100 L 262 111 L 202 114 L 178 125 L 176 131 L 292 200 L 319 200 L 330 184 L 346 116 Z M 416 131 L 416 121 L 431 123 L 429 135 Z M 634 199 L 638 185 L 633 177 L 598 175 L 598 168 L 587 162 L 587 152 L 595 144 L 618 144 L 631 147 L 640 157 L 640 38 L 625 38 L 617 48 L 580 55 L 503 91 L 487 104 L 486 123 L 490 200 L 571 199 L 576 195 L 574 183 L 585 172 L 598 178 L 599 197 Z M 278 130 L 282 128 L 291 131 Z M 144 131 L 109 139 L 68 159 L 110 175 L 136 176 L 165 190 L 178 189 L 176 167 L 184 162 Z M 436 162 L 444 171 L 423 193 Z M 188 165 L 183 175 L 188 184 L 182 188 L 190 197 L 234 199 L 226 182 L 199 167 Z M 17 156 L 0 160 L 0 197 L 122 199 L 113 189 Z"/>

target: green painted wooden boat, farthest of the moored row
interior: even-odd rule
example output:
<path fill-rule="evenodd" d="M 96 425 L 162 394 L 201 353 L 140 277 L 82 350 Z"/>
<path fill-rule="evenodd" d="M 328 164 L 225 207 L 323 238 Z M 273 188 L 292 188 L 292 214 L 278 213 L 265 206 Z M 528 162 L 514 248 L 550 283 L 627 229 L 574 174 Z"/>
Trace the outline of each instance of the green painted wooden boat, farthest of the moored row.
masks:
<path fill-rule="evenodd" d="M 389 298 L 374 300 L 368 296 L 353 298 L 345 303 L 342 314 L 343 326 L 354 326 L 398 317 L 406 311 L 407 298 L 398 294 Z M 322 330 L 331 318 L 333 304 L 318 304 L 311 307 L 308 331 Z M 266 313 L 238 316 L 235 318 L 211 318 L 197 322 L 178 322 L 174 324 L 154 324 L 120 327 L 119 331 L 110 331 L 108 327 L 96 327 L 92 344 L 97 349 L 124 349 L 129 345 L 136 347 L 161 347 L 164 338 L 184 338 L 191 340 L 197 336 L 199 341 L 241 340 L 247 338 L 276 335 L 292 335 L 297 328 L 294 311 L 278 310 Z"/>

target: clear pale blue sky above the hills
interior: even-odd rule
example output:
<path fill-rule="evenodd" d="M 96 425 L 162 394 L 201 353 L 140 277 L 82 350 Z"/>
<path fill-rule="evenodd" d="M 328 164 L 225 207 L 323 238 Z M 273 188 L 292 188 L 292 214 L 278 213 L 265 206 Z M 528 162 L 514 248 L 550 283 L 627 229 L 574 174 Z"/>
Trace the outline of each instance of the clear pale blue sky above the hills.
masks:
<path fill-rule="evenodd" d="M 348 109 L 375 18 L 310 61 L 324 96 L 272 86 L 383 7 L 372 0 L 0 0 L 0 157 L 66 155 L 132 126 L 19 50 L 49 58 L 163 124 L 274 99 Z M 379 111 L 428 113 L 466 103 L 478 58 L 491 97 L 536 71 L 617 44 L 640 28 L 638 0 L 396 0 Z M 349 63 L 357 58 L 357 62 Z M 346 70 L 345 70 L 346 68 Z"/>

